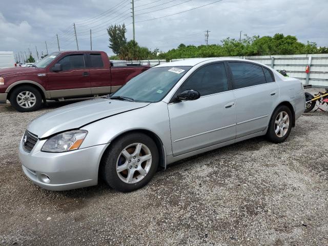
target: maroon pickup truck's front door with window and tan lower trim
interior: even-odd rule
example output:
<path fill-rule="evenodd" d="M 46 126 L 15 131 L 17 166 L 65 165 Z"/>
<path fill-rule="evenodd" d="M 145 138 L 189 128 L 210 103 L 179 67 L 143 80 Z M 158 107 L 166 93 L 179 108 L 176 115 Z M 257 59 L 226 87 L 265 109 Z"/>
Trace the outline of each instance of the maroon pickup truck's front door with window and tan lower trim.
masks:
<path fill-rule="evenodd" d="M 48 91 L 52 98 L 91 95 L 89 69 L 83 53 L 69 54 L 57 61 L 63 70 L 48 72 Z"/>

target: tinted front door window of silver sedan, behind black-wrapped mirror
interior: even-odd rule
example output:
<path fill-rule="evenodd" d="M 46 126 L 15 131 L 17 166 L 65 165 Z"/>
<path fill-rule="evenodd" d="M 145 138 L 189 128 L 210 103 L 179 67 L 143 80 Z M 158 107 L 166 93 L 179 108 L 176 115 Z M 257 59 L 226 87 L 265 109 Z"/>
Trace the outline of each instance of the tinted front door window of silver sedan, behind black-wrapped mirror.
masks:
<path fill-rule="evenodd" d="M 228 78 L 223 63 L 201 67 L 182 84 L 179 92 L 195 90 L 200 96 L 228 91 Z"/>

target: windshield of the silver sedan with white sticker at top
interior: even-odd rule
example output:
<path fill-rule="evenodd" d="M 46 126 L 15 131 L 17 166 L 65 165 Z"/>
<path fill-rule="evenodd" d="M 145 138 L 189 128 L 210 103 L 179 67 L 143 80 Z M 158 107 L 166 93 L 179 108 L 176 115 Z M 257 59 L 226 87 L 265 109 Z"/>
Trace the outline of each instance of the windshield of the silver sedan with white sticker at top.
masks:
<path fill-rule="evenodd" d="M 151 68 L 132 78 L 111 98 L 154 103 L 163 99 L 191 67 Z"/>

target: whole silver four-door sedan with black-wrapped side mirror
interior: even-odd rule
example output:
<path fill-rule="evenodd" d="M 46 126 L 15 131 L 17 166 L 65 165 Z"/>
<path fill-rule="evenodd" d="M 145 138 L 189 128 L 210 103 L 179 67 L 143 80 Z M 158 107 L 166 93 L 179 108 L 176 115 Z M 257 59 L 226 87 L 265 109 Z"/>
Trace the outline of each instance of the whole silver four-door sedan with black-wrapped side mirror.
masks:
<path fill-rule="evenodd" d="M 156 66 L 106 98 L 34 119 L 19 145 L 38 186 L 97 185 L 128 192 L 159 167 L 265 135 L 283 142 L 305 108 L 301 82 L 244 59 L 189 59 Z"/>

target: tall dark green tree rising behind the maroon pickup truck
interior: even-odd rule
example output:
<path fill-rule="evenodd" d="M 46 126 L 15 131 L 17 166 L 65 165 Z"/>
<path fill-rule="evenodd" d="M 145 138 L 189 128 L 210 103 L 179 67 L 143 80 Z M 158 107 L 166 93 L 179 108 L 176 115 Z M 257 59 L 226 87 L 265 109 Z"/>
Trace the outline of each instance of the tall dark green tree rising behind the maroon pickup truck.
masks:
<path fill-rule="evenodd" d="M 125 24 L 123 25 L 111 25 L 107 28 L 107 33 L 109 35 L 109 48 L 113 50 L 114 54 L 119 54 L 120 49 L 127 44 L 127 38 L 125 33 L 127 28 Z"/>

